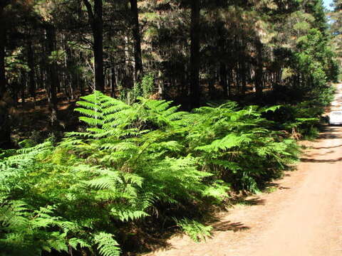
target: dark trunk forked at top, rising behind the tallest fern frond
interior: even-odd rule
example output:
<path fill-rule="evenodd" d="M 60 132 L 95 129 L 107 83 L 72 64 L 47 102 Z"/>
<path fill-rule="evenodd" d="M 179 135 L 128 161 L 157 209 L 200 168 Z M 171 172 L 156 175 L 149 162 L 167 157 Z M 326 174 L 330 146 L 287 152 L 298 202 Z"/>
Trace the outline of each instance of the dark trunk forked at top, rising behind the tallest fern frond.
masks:
<path fill-rule="evenodd" d="M 103 16 L 102 0 L 94 0 L 94 11 L 88 0 L 83 0 L 86 5 L 90 27 L 93 31 L 93 53 L 95 67 L 95 90 L 105 90 L 105 78 L 103 75 Z"/>

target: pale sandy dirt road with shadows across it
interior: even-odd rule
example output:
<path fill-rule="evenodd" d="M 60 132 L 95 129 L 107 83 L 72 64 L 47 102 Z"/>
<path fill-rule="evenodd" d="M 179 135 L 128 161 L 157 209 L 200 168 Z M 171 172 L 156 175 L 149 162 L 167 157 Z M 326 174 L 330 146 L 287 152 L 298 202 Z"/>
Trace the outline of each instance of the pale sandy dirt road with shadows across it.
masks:
<path fill-rule="evenodd" d="M 342 106 L 337 85 L 331 109 Z M 148 256 L 342 255 L 342 127 L 326 127 L 306 147 L 296 171 L 274 181 L 271 193 L 249 196 L 212 224 L 212 238 L 174 236 Z"/>

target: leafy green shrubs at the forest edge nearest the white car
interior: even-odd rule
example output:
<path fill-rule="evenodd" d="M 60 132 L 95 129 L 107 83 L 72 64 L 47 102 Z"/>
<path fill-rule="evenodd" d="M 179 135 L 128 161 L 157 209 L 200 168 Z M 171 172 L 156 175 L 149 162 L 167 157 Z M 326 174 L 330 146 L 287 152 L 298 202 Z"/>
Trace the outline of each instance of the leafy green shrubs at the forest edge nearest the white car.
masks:
<path fill-rule="evenodd" d="M 274 85 L 266 94 L 274 99 L 273 104 L 284 104 L 271 119 L 282 124 L 279 129 L 313 135 L 323 107 L 333 100 L 334 89 L 328 81 L 338 79 L 338 64 L 328 39 L 322 31 L 311 28 L 297 38 L 296 50 L 279 49 L 277 54 L 289 58 L 289 63 L 282 71 L 283 84 Z"/>

